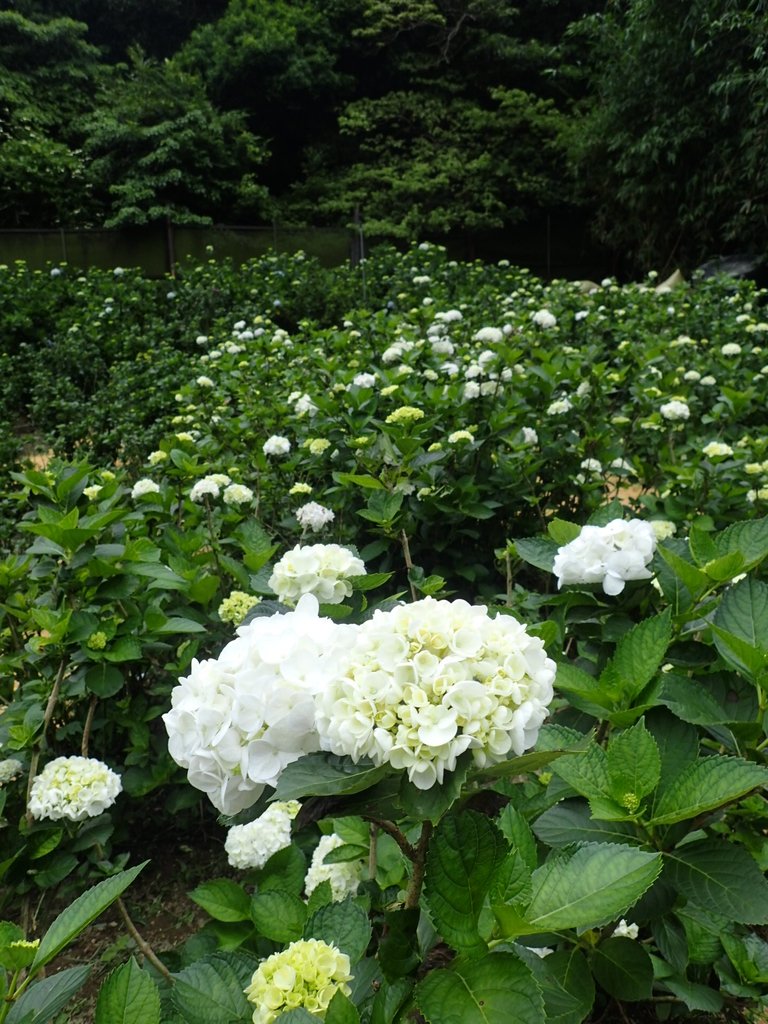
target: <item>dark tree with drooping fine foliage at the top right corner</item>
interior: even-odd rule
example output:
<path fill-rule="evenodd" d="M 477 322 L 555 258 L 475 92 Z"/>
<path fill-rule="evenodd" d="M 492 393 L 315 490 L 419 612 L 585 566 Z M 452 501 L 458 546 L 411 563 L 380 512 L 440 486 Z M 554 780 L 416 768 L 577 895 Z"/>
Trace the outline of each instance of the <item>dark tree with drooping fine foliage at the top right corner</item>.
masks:
<path fill-rule="evenodd" d="M 638 269 L 764 253 L 765 0 L 622 0 L 578 38 L 594 91 L 569 150 L 600 238 Z"/>

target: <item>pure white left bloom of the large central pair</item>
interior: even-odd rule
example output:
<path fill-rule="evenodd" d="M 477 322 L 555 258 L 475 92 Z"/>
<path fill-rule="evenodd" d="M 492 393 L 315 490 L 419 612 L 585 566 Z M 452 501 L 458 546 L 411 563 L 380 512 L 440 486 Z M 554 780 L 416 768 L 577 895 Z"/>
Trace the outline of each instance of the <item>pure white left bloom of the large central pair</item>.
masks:
<path fill-rule="evenodd" d="M 214 807 L 237 814 L 302 754 L 319 749 L 314 694 L 338 675 L 348 631 L 302 597 L 242 626 L 218 658 L 194 660 L 163 716 L 171 757 Z"/>

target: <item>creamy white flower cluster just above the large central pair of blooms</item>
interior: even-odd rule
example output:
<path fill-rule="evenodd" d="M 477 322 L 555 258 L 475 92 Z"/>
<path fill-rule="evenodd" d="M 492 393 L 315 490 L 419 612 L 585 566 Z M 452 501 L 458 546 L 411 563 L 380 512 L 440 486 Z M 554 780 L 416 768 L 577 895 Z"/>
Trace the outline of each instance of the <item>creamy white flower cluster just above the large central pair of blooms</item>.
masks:
<path fill-rule="evenodd" d="M 340 604 L 352 593 L 349 578 L 365 574 L 364 562 L 338 544 L 297 544 L 274 566 L 269 587 L 286 604 L 295 604 L 302 594 Z"/>

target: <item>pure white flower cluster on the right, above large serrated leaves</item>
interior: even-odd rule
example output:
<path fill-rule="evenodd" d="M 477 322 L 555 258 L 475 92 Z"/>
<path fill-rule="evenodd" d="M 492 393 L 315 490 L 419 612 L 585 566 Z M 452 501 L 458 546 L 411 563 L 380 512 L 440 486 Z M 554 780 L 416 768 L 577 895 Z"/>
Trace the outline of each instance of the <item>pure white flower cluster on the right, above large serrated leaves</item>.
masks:
<path fill-rule="evenodd" d="M 555 555 L 557 586 L 599 583 L 609 595 L 621 594 L 628 580 L 649 580 L 648 564 L 656 535 L 642 519 L 613 519 L 605 526 L 587 525 Z"/>

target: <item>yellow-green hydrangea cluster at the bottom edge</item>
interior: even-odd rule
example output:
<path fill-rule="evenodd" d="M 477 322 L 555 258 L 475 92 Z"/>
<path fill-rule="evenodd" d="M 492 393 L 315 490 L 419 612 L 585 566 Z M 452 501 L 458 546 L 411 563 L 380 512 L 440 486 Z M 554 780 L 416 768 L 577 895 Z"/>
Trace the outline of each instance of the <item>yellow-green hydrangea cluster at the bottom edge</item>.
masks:
<path fill-rule="evenodd" d="M 259 964 L 245 992 L 256 1008 L 254 1024 L 272 1024 L 303 1007 L 323 1018 L 338 991 L 349 995 L 349 957 L 322 939 L 299 939 Z"/>

